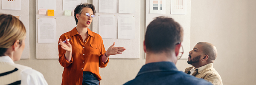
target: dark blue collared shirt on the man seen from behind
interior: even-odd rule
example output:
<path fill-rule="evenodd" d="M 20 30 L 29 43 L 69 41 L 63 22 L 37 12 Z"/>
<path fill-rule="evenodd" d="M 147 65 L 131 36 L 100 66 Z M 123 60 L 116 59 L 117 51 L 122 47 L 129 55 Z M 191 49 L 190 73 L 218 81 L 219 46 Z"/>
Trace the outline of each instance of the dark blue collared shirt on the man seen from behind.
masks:
<path fill-rule="evenodd" d="M 124 85 L 212 85 L 212 83 L 178 71 L 172 62 L 152 62 L 143 65 L 135 79 Z"/>

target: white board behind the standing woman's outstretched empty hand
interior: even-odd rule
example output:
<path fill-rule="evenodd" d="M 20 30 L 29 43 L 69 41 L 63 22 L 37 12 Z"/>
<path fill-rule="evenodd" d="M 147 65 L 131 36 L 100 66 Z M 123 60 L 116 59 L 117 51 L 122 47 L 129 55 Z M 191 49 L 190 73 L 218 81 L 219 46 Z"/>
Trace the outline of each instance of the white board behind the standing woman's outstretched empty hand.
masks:
<path fill-rule="evenodd" d="M 115 15 L 116 17 L 116 31 L 118 29 L 118 15 L 134 15 L 135 17 L 135 37 L 134 39 L 117 39 L 118 35 L 116 35 L 115 39 L 102 39 L 105 49 L 107 50 L 113 42 L 116 42 L 115 46 L 122 46 L 126 50 L 122 52 L 122 54 L 111 55 L 110 58 L 116 59 L 137 59 L 140 58 L 140 0 L 134 0 L 135 13 L 132 14 L 120 14 L 118 13 L 118 4 L 116 4 L 116 12 L 115 13 L 99 13 L 99 1 L 93 0 L 93 5 L 96 6 L 96 18 L 93 19 L 93 32 L 98 33 L 98 16 L 100 14 L 105 15 Z M 117 34 L 117 33 L 116 33 Z"/>

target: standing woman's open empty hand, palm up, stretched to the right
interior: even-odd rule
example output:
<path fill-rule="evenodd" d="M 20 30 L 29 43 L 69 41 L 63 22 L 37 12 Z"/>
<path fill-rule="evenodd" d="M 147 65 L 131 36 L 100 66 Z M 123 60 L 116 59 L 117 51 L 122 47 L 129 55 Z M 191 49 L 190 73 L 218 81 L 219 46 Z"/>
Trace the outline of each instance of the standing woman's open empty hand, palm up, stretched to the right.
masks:
<path fill-rule="evenodd" d="M 122 54 L 125 51 L 124 47 L 114 47 L 115 42 L 111 45 L 108 50 L 106 51 L 106 55 L 109 57 L 110 55 Z"/>

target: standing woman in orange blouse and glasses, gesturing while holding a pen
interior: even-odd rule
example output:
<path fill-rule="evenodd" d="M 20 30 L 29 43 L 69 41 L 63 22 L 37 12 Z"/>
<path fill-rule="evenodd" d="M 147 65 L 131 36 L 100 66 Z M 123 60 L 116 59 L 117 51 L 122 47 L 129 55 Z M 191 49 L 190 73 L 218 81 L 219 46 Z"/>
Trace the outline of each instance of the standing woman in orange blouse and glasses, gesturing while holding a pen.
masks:
<path fill-rule="evenodd" d="M 64 67 L 61 85 L 99 85 L 99 67 L 106 67 L 108 57 L 122 54 L 125 48 L 114 47 L 114 42 L 105 51 L 102 37 L 87 28 L 95 18 L 93 4 L 81 3 L 74 12 L 77 26 L 59 39 L 59 62 Z"/>

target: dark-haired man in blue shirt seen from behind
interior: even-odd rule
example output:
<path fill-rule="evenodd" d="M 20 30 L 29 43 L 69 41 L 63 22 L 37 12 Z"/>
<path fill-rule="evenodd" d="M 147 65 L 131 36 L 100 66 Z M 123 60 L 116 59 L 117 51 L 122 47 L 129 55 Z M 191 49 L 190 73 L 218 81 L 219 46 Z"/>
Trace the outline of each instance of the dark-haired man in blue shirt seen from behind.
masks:
<path fill-rule="evenodd" d="M 136 78 L 124 85 L 212 85 L 175 67 L 183 28 L 172 18 L 157 17 L 147 27 L 144 40 L 146 64 Z"/>

